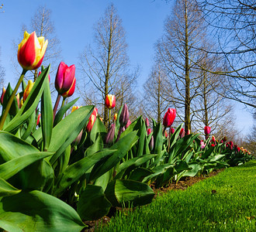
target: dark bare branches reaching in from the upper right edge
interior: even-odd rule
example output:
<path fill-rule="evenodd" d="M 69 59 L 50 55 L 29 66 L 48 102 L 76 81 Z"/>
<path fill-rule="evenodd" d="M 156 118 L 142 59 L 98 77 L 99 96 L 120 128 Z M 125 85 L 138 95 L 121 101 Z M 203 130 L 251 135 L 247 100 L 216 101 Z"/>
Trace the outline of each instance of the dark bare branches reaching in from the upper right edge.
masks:
<path fill-rule="evenodd" d="M 199 2 L 208 29 L 219 43 L 219 49 L 214 53 L 222 55 L 230 67 L 221 73 L 229 77 L 225 85 L 226 97 L 256 107 L 256 3 L 251 0 Z"/>

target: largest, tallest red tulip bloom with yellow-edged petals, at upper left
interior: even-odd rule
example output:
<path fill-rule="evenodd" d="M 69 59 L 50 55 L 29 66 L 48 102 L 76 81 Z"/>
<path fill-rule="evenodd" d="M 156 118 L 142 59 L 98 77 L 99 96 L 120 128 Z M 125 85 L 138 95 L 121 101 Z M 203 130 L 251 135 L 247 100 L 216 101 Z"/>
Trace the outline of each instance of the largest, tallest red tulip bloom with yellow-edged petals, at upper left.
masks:
<path fill-rule="evenodd" d="M 43 36 L 37 38 L 36 32 L 24 32 L 24 39 L 18 48 L 18 61 L 23 70 L 36 70 L 40 67 L 47 45 L 48 40 L 44 41 Z"/>

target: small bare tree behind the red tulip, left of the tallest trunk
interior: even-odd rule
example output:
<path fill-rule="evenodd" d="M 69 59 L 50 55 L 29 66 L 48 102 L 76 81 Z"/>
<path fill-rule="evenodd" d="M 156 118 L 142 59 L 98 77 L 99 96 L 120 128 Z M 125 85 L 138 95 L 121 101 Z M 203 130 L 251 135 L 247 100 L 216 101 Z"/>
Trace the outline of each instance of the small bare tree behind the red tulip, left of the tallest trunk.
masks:
<path fill-rule="evenodd" d="M 150 77 L 144 83 L 144 114 L 161 122 L 170 107 L 171 84 L 159 64 L 154 65 Z"/>

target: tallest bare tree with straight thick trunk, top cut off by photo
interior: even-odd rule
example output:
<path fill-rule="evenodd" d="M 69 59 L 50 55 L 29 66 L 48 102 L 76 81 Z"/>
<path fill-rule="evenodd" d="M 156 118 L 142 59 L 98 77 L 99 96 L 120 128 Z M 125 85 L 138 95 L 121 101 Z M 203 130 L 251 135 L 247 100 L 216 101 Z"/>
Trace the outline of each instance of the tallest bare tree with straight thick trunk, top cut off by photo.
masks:
<path fill-rule="evenodd" d="M 158 61 L 170 77 L 172 102 L 178 117 L 185 122 L 185 131 L 191 131 L 194 114 L 191 103 L 201 85 L 197 69 L 202 53 L 193 46 L 202 46 L 205 33 L 197 2 L 178 0 L 165 22 L 164 36 L 157 43 Z"/>

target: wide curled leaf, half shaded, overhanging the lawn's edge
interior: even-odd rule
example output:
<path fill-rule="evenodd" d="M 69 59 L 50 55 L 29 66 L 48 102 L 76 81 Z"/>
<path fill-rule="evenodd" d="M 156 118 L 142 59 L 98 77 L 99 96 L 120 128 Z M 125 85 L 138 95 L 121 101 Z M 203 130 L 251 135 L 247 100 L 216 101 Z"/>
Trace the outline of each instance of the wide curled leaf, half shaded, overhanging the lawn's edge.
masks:
<path fill-rule="evenodd" d="M 143 206 L 151 203 L 154 198 L 154 191 L 150 186 L 130 179 L 113 180 L 105 193 L 113 206 Z"/>

